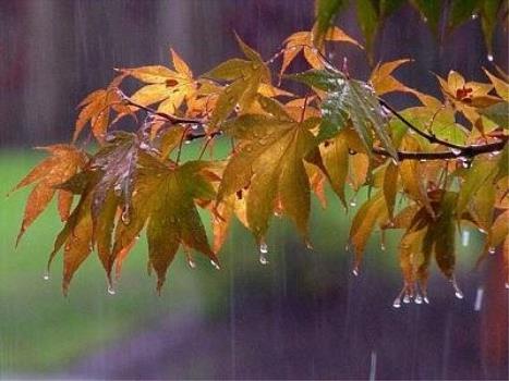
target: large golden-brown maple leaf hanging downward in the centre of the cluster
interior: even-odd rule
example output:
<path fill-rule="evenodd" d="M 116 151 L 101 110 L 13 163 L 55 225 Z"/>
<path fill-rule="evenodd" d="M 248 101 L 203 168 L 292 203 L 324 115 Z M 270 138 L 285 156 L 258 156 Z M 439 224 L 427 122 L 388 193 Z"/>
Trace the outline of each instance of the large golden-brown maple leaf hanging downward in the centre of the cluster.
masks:
<path fill-rule="evenodd" d="M 225 169 L 218 201 L 249 187 L 246 220 L 258 244 L 264 242 L 277 199 L 308 241 L 310 180 L 303 160 L 317 145 L 310 130 L 318 120 L 299 123 L 280 111 L 278 116 L 244 114 L 222 125 L 240 143 Z"/>

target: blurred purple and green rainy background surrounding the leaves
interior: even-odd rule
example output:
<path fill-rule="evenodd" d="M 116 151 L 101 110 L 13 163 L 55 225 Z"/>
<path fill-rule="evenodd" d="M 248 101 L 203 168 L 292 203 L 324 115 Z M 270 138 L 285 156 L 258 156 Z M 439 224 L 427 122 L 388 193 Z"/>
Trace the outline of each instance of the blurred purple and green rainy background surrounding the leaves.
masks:
<path fill-rule="evenodd" d="M 312 0 L 0 0 L 0 194 L 40 160 L 32 146 L 69 142 L 76 105 L 112 78 L 112 67 L 169 64 L 172 47 L 199 74 L 240 56 L 233 30 L 268 58 L 312 23 Z M 351 9 L 337 24 L 362 40 Z M 367 77 L 363 51 L 338 46 L 334 54 L 337 63 L 348 57 L 353 76 Z M 438 95 L 434 73 L 457 70 L 486 81 L 482 67 L 495 63 L 507 72 L 502 28 L 493 54 L 488 62 L 475 17 L 435 36 L 403 5 L 378 34 L 375 62 L 413 58 L 398 77 Z M 299 61 L 292 66 L 302 67 Z M 198 149 L 193 145 L 190 157 Z M 433 271 L 431 305 L 392 308 L 402 283 L 397 235 L 381 251 L 375 234 L 353 276 L 344 247 L 355 208 L 346 214 L 334 197 L 325 211 L 313 201 L 314 250 L 288 221 L 275 219 L 270 263 L 262 266 L 251 235 L 235 225 L 220 254 L 221 271 L 201 258 L 190 270 L 181 255 L 158 296 L 141 242 L 116 295 L 106 292 L 90 257 L 65 298 L 61 261 L 43 280 L 60 229 L 54 206 L 14 249 L 26 195 L 0 198 L 0 378 L 508 378 L 501 257 L 489 256 L 473 270 L 478 232 L 459 239 L 462 300 Z"/>

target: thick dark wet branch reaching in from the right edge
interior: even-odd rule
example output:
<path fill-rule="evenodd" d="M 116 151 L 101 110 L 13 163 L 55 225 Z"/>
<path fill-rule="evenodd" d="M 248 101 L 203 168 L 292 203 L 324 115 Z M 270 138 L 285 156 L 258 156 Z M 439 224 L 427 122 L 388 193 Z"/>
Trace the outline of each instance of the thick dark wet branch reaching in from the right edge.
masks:
<path fill-rule="evenodd" d="M 409 152 L 409 151 L 398 151 L 398 159 L 402 160 L 455 160 L 455 159 L 473 159 L 474 157 L 483 153 L 493 153 L 499 152 L 504 149 L 509 136 L 501 137 L 500 140 L 495 143 L 489 143 L 480 146 L 464 146 L 461 148 L 461 152 L 458 155 L 452 151 L 441 151 L 441 152 Z M 390 157 L 390 153 L 383 148 L 373 148 L 373 153 Z"/>

